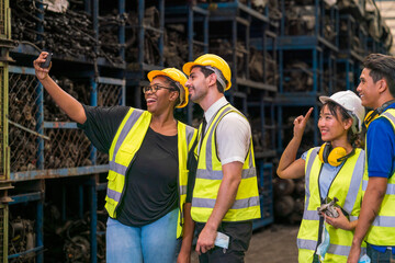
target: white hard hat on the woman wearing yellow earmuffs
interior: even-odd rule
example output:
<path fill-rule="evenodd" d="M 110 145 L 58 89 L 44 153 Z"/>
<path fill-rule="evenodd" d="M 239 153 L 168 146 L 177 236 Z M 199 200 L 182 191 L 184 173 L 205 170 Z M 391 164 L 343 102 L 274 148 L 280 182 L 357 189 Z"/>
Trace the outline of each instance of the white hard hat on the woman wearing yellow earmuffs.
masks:
<path fill-rule="evenodd" d="M 352 91 L 339 91 L 331 96 L 319 96 L 319 101 L 325 104 L 329 101 L 342 106 L 353 118 L 352 133 L 360 134 L 365 115 L 361 99 Z"/>

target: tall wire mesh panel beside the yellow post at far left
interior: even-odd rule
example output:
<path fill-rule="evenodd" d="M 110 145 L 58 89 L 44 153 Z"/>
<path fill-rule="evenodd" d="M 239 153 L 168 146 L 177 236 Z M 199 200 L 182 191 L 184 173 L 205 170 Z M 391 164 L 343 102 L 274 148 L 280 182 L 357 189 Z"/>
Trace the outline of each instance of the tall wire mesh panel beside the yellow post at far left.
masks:
<path fill-rule="evenodd" d="M 36 115 L 41 89 L 32 75 L 9 75 L 9 146 L 11 172 L 37 167 Z"/>

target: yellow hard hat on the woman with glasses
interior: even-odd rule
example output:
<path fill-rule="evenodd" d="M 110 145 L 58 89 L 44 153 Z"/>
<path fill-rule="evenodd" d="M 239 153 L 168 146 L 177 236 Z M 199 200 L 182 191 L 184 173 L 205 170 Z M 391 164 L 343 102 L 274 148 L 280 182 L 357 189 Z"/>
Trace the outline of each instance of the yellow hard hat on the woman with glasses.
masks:
<path fill-rule="evenodd" d="M 149 81 L 153 81 L 153 79 L 157 76 L 166 76 L 166 77 L 172 79 L 176 83 L 178 83 L 178 85 L 180 85 L 179 87 L 180 88 L 180 104 L 177 105 L 176 107 L 180 108 L 180 107 L 187 106 L 189 91 L 188 91 L 188 88 L 185 87 L 185 83 L 188 80 L 185 75 L 181 70 L 178 70 L 177 68 L 166 68 L 162 70 L 153 70 L 153 71 L 149 71 L 147 75 Z"/>

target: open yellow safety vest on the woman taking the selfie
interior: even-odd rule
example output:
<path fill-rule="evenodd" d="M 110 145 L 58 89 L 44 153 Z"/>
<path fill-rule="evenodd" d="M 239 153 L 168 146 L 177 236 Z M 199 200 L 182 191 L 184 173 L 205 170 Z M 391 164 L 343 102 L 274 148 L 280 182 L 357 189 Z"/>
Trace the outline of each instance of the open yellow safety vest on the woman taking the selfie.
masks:
<path fill-rule="evenodd" d="M 112 218 L 116 218 L 116 208 L 125 190 L 125 176 L 134 161 L 136 152 L 143 144 L 150 121 L 151 114 L 149 112 L 131 107 L 122 121 L 112 141 L 109 152 L 109 184 L 105 196 L 105 209 Z M 191 150 L 196 139 L 198 132 L 181 122 L 178 122 L 177 129 L 179 158 L 178 192 L 180 197 L 177 238 L 179 238 L 182 236 L 182 226 L 184 220 L 183 205 L 187 198 L 189 172 L 187 170 L 188 152 Z"/>

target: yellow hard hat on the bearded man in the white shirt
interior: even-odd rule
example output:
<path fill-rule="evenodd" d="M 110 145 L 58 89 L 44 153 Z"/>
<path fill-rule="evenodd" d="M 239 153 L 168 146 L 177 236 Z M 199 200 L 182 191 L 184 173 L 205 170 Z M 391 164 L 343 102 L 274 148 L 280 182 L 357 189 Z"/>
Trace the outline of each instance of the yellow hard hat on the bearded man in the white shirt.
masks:
<path fill-rule="evenodd" d="M 215 69 L 219 70 L 221 73 L 223 75 L 223 78 L 225 78 L 227 80 L 227 84 L 225 88 L 225 90 L 230 89 L 232 87 L 232 72 L 230 72 L 230 68 L 229 65 L 219 56 L 214 55 L 214 54 L 205 54 L 203 56 L 200 56 L 199 58 L 196 58 L 196 60 L 194 60 L 193 62 L 187 62 L 183 67 L 182 70 L 185 72 L 185 75 L 190 75 L 192 67 L 193 66 L 204 66 L 204 67 L 208 67 L 208 69 L 214 70 L 215 75 L 217 76 L 217 79 L 221 81 L 222 80 L 222 76 L 218 76 L 218 73 L 216 72 Z M 213 69 L 214 68 L 214 69 Z M 224 82 L 224 81 L 223 81 Z M 224 84 L 225 85 L 225 84 Z"/>

